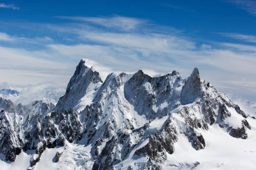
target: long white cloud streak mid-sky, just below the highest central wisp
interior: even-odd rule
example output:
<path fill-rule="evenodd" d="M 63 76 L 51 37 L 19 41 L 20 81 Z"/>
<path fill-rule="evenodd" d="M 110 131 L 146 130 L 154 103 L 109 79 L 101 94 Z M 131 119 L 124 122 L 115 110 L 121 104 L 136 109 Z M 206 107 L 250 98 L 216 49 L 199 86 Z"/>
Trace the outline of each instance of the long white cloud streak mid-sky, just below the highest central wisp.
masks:
<path fill-rule="evenodd" d="M 119 45 L 124 47 L 142 48 L 147 50 L 166 52 L 169 49 L 193 49 L 194 42 L 182 37 L 166 34 L 137 34 L 80 31 L 80 37 L 96 42 Z"/>

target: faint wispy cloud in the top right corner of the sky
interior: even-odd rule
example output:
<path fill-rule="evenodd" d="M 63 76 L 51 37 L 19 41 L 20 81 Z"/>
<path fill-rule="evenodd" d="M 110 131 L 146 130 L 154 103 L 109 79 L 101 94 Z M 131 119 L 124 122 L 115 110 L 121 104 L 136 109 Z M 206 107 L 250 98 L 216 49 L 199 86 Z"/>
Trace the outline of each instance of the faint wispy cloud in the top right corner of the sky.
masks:
<path fill-rule="evenodd" d="M 246 10 L 248 13 L 256 16 L 256 1 L 255 0 L 227 0 L 236 4 L 239 8 Z"/>

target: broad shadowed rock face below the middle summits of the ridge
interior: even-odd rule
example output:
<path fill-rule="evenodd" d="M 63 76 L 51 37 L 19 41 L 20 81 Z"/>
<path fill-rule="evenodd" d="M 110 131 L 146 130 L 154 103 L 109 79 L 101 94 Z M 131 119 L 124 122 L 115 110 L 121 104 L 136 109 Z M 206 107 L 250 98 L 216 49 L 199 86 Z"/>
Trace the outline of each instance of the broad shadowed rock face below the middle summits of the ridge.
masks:
<path fill-rule="evenodd" d="M 160 77 L 150 77 L 139 70 L 125 83 L 125 98 L 139 114 L 152 118 L 156 116 L 156 107 L 164 101 L 178 100 L 175 88 L 180 86 L 180 80 L 176 71 Z"/>

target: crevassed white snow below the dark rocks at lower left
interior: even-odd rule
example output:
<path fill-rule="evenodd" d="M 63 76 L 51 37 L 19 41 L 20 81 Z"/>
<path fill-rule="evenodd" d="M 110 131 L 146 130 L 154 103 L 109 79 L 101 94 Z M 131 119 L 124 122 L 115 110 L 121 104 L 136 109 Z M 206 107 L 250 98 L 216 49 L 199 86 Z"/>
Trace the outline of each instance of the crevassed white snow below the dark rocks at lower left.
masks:
<path fill-rule="evenodd" d="M 65 149 L 66 148 L 66 149 Z M 63 147 L 46 148 L 42 153 L 40 161 L 34 166 L 33 170 L 74 170 L 85 169 L 90 170 L 93 162 L 90 160 L 91 145 L 84 146 L 74 143 L 68 143 Z M 54 162 L 56 152 L 63 152 L 59 158 L 59 162 Z M 33 157 L 35 150 L 21 152 L 17 156 L 14 163 L 6 163 L 3 155 L 0 155 L 1 170 L 26 170 L 29 166 L 29 161 Z"/>

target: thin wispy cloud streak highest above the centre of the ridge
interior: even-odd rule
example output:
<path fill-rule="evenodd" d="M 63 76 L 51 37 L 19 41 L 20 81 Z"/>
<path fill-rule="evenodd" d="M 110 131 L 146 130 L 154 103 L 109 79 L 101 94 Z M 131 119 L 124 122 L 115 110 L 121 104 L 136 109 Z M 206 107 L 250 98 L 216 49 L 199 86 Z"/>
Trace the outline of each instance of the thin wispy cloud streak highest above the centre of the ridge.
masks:
<path fill-rule="evenodd" d="M 157 25 L 151 20 L 122 17 L 114 15 L 111 17 L 67 17 L 57 16 L 57 18 L 67 19 L 73 21 L 69 25 L 63 27 L 56 27 L 56 25 L 47 25 L 49 28 L 58 29 L 64 32 L 73 32 L 74 28 L 77 30 L 91 30 L 92 32 L 155 32 L 155 33 L 167 33 L 172 34 L 180 33 L 182 30 L 177 30 L 172 27 Z M 75 23 L 76 22 L 76 23 Z M 79 22 L 79 23 L 77 23 Z M 72 25 L 70 25 L 72 24 Z M 74 32 L 75 33 L 75 32 Z"/>

